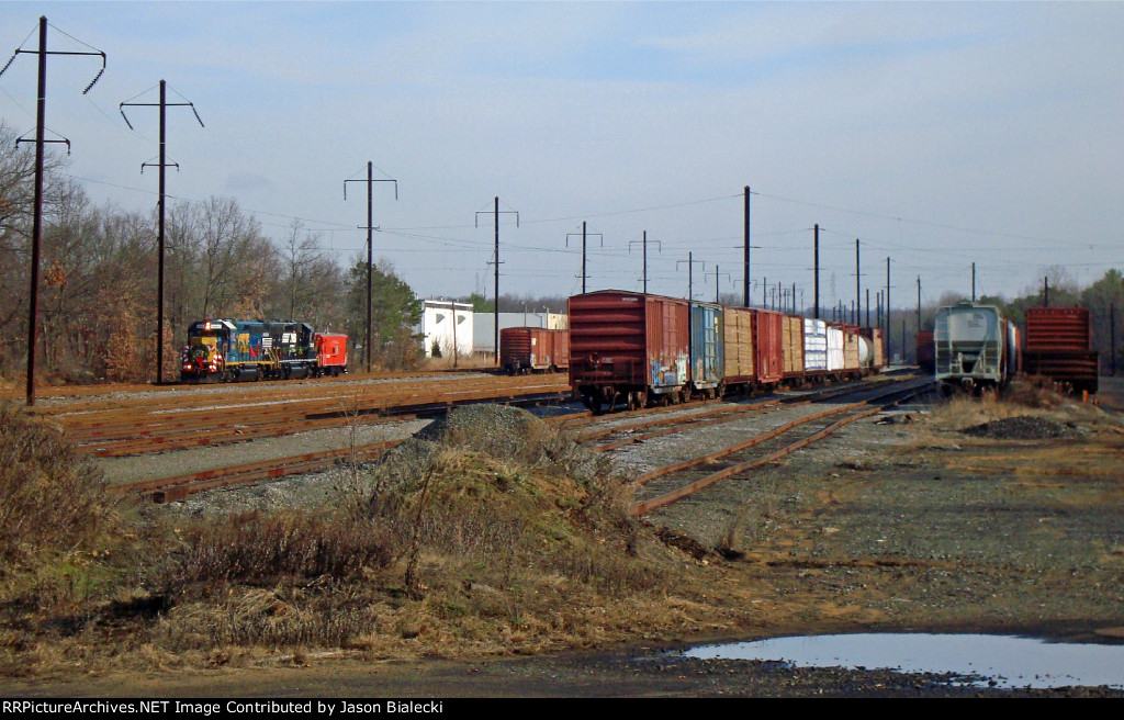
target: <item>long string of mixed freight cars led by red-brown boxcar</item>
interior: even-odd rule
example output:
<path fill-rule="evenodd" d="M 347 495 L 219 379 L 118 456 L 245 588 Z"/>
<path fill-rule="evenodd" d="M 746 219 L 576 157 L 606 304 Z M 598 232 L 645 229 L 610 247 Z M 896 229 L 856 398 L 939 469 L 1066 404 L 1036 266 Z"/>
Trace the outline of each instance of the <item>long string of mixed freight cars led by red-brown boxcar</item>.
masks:
<path fill-rule="evenodd" d="M 570 385 L 597 411 L 860 379 L 881 331 L 619 290 L 570 298 Z"/>

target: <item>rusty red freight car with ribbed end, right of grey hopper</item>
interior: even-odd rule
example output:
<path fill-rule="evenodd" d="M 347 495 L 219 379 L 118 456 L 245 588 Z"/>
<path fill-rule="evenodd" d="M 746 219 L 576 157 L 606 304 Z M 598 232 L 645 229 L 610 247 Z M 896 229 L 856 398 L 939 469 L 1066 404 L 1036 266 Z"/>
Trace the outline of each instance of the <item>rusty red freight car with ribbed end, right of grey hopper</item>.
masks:
<path fill-rule="evenodd" d="M 1023 365 L 1076 392 L 1097 392 L 1098 354 L 1086 308 L 1028 308 Z"/>

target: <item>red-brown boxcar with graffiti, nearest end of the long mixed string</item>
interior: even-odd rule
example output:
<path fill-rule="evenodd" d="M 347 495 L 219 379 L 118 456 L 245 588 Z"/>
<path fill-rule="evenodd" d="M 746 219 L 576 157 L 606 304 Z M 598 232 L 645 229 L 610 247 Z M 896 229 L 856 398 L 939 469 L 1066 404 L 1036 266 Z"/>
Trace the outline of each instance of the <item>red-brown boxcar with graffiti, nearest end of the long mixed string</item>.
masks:
<path fill-rule="evenodd" d="M 570 298 L 570 386 L 592 410 L 683 398 L 690 381 L 686 300 L 602 290 Z"/>

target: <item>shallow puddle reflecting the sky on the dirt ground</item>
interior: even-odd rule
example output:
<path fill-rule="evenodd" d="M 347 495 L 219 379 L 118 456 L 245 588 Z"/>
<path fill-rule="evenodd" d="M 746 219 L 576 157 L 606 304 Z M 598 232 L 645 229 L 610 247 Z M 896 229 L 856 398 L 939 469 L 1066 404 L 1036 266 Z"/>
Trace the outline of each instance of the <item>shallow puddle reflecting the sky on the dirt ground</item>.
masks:
<path fill-rule="evenodd" d="M 1124 689 L 1124 646 L 1045 642 L 995 635 L 868 634 L 705 645 L 700 659 L 782 660 L 795 666 L 890 668 L 976 675 L 997 687 Z"/>

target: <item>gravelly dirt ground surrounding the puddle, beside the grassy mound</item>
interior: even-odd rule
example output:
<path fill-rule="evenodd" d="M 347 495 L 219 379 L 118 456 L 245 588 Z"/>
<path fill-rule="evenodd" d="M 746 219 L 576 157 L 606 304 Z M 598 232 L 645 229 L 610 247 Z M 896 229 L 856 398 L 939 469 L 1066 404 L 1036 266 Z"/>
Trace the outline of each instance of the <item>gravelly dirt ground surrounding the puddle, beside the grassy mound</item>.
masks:
<path fill-rule="evenodd" d="M 711 618 L 708 627 L 685 621 L 683 632 L 610 635 L 593 651 L 535 657 L 462 658 L 450 647 L 409 662 L 309 654 L 175 675 L 0 681 L 0 695 L 1124 696 L 678 653 L 704 640 L 872 631 L 1121 644 L 1124 382 L 1105 381 L 1099 401 L 1027 409 L 1041 437 L 980 408 L 919 403 L 661 510 L 649 522 L 694 552 L 698 601 L 685 616 Z M 964 432 L 988 421 L 991 434 Z"/>

